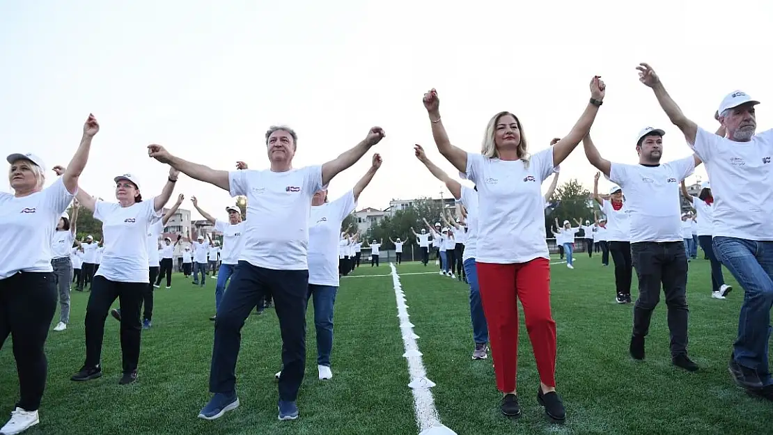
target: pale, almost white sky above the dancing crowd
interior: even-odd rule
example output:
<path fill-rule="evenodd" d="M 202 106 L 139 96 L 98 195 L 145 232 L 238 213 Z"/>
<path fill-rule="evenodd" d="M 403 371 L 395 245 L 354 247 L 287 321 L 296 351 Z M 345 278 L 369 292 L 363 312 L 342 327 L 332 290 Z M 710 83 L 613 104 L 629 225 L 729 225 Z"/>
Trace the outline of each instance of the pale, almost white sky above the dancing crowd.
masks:
<path fill-rule="evenodd" d="M 80 185 L 114 199 L 114 176 L 131 172 L 149 198 L 169 168 L 148 158 L 148 144 L 213 168 L 238 160 L 267 168 L 264 133 L 287 124 L 298 132 L 301 167 L 321 165 L 380 126 L 386 138 L 334 178 L 329 195 L 351 189 L 378 152 L 383 165 L 358 208 L 384 209 L 390 199 L 444 191 L 414 144 L 457 176 L 421 104 L 432 87 L 451 141 L 467 151 L 479 152 L 500 110 L 518 114 L 531 152 L 547 148 L 570 131 L 600 75 L 607 95 L 591 135 L 604 158 L 638 161 L 635 137 L 649 125 L 666 131 L 663 161 L 690 155 L 638 82 L 639 62 L 707 130 L 716 130 L 713 113 L 734 90 L 761 101 L 758 131 L 773 127 L 773 2 L 523 3 L 5 0 L 0 147 L 35 153 L 49 168 L 67 165 L 94 113 L 100 132 Z M 580 145 L 560 181 L 591 189 L 594 173 Z M 705 170 L 687 181 L 696 177 L 705 181 Z M 54 178 L 49 172 L 47 184 Z M 602 178 L 601 190 L 609 185 Z M 7 177 L 0 190 L 11 191 Z M 186 195 L 183 208 L 196 195 L 220 217 L 233 204 L 228 192 L 185 175 L 176 193 Z"/>

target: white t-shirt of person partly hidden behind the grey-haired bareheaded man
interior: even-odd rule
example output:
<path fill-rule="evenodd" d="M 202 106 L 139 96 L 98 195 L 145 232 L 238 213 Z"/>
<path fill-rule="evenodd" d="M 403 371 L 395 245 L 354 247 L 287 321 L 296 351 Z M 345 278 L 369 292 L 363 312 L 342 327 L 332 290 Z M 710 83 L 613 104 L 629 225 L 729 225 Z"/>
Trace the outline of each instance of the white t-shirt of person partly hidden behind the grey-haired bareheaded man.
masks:
<path fill-rule="evenodd" d="M 339 285 L 339 243 L 341 223 L 356 208 L 354 193 L 346 192 L 335 201 L 312 206 L 308 219 L 308 284 Z"/>

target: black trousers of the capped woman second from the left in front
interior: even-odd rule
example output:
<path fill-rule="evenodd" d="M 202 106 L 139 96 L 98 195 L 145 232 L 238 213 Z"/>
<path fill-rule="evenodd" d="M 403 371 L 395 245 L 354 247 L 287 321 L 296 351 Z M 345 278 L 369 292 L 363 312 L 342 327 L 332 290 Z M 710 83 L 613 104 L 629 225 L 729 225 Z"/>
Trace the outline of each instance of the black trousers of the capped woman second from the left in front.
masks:
<path fill-rule="evenodd" d="M 124 373 L 137 369 L 140 359 L 140 311 L 148 283 L 121 283 L 94 277 L 86 307 L 86 362 L 87 368 L 100 364 L 104 321 L 113 302 L 118 299 L 121 308 L 121 355 Z"/>

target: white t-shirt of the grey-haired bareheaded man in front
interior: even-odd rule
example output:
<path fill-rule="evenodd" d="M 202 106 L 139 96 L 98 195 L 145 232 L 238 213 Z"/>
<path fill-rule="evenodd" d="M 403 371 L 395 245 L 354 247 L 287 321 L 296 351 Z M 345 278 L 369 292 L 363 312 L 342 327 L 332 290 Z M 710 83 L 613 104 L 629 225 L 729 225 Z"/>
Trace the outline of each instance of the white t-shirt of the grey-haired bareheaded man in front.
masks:
<path fill-rule="evenodd" d="M 231 196 L 247 196 L 250 219 L 240 259 L 267 269 L 307 270 L 309 216 L 312 196 L 322 189 L 322 166 L 232 171 L 228 181 Z"/>

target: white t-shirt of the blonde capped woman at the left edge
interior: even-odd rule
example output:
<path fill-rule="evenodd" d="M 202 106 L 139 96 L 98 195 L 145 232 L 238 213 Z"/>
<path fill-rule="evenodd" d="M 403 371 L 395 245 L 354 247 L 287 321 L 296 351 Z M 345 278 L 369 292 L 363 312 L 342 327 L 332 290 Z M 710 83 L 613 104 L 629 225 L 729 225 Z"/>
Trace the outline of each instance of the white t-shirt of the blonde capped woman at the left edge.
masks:
<path fill-rule="evenodd" d="M 0 192 L 0 279 L 22 270 L 53 272 L 51 240 L 72 201 L 73 194 L 67 192 L 62 178 L 21 198 Z"/>

